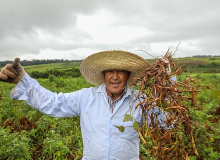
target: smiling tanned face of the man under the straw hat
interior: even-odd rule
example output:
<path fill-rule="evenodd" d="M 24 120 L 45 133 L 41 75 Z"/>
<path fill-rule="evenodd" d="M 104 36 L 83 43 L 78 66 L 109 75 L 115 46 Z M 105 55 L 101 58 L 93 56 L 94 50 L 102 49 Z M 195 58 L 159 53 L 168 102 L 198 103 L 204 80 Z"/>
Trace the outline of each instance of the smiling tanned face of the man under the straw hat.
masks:
<path fill-rule="evenodd" d="M 104 71 L 106 90 L 109 96 L 119 97 L 127 84 L 129 72 L 125 70 L 106 70 Z"/>

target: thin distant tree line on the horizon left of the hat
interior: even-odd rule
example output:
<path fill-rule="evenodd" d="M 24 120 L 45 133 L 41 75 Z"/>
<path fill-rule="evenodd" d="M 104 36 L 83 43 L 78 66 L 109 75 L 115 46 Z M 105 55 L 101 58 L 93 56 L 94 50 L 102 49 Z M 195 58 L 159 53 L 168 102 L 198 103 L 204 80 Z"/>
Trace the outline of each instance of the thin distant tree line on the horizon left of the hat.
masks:
<path fill-rule="evenodd" d="M 20 61 L 22 66 L 30 66 L 30 65 L 39 65 L 39 64 L 50 64 L 50 63 L 73 63 L 73 62 L 82 62 L 82 60 L 64 60 L 64 59 L 33 59 L 31 61 L 23 60 Z M 13 61 L 0 61 L 0 66 L 5 66 L 6 64 L 13 63 Z"/>

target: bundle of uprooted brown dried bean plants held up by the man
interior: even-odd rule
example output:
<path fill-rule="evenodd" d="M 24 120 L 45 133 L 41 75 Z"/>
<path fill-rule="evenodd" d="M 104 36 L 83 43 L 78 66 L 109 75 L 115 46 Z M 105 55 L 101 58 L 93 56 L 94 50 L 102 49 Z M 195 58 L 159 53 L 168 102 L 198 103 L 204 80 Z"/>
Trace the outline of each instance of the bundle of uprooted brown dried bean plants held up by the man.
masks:
<path fill-rule="evenodd" d="M 151 154 L 159 160 L 199 156 L 195 143 L 197 128 L 192 125 L 189 109 L 197 108 L 198 91 L 193 84 L 198 80 L 171 81 L 172 76 L 181 73 L 181 67 L 173 62 L 173 55 L 169 48 L 163 57 L 169 60 L 171 74 L 166 73 L 168 63 L 157 58 L 156 63 L 136 78 L 134 84 L 140 87 L 138 98 L 143 100 L 136 108 L 141 106 L 145 116 L 139 135 L 144 143 L 150 136 L 153 142 Z M 165 116 L 164 119 L 161 119 L 160 113 Z"/>

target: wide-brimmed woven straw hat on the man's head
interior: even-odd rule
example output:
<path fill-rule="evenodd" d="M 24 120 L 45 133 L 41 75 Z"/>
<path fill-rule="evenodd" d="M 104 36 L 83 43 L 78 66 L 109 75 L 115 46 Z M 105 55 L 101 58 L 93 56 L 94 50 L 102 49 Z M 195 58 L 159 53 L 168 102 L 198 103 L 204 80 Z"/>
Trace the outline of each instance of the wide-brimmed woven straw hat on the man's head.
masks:
<path fill-rule="evenodd" d="M 80 72 L 83 77 L 99 86 L 104 83 L 102 71 L 108 69 L 118 69 L 130 71 L 127 84 L 130 86 L 133 78 L 150 67 L 150 63 L 142 57 L 121 50 L 103 51 L 88 56 L 80 65 Z"/>

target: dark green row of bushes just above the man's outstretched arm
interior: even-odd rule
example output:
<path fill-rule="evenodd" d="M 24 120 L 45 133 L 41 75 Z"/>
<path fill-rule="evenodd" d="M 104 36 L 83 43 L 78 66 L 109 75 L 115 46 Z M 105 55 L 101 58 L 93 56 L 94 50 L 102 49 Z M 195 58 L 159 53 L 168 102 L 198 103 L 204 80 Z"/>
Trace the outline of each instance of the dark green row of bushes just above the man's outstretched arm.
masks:
<path fill-rule="evenodd" d="M 78 68 L 71 68 L 71 69 L 65 69 L 65 70 L 58 70 L 58 69 L 51 69 L 43 72 L 39 71 L 33 71 L 29 73 L 29 75 L 32 78 L 49 78 L 51 75 L 56 76 L 56 77 L 80 77 L 81 73 Z"/>

